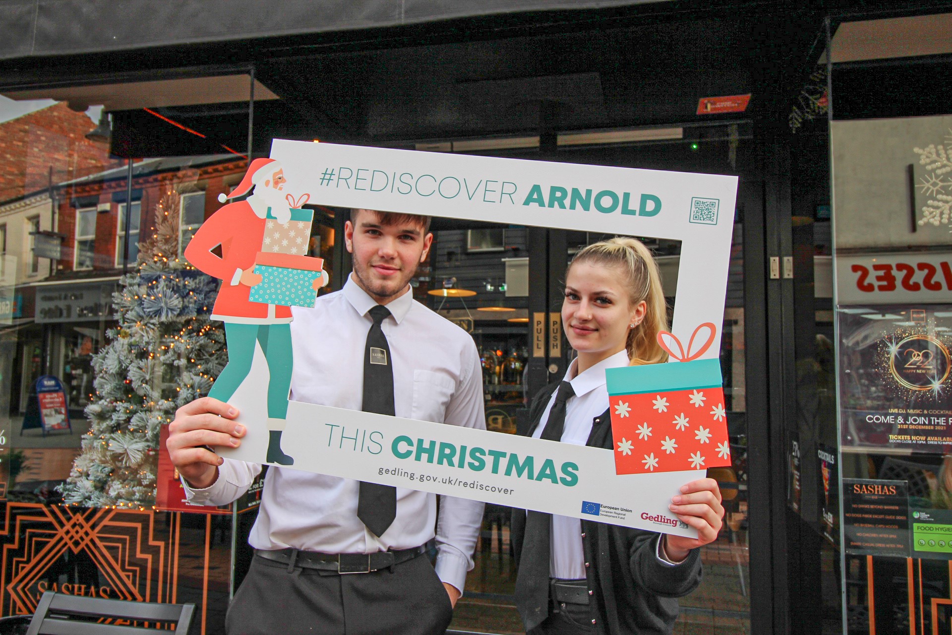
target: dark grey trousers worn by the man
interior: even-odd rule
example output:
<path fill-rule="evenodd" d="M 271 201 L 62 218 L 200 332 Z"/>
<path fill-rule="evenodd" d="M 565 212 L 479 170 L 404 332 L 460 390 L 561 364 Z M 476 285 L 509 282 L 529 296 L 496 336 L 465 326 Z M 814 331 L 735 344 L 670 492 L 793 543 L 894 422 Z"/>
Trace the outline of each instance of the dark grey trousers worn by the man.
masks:
<path fill-rule="evenodd" d="M 228 606 L 228 635 L 442 635 L 453 616 L 426 556 L 338 575 L 255 556 Z"/>

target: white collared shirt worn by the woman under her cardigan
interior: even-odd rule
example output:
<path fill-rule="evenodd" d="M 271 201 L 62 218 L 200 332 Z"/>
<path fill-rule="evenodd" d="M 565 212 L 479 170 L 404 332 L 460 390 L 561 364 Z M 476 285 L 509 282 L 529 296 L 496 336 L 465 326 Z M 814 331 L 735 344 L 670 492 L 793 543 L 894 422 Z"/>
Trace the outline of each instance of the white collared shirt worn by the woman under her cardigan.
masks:
<path fill-rule="evenodd" d="M 605 412 L 608 407 L 608 388 L 605 386 L 605 369 L 626 367 L 629 364 L 628 353 L 621 350 L 598 364 L 585 368 L 576 374 L 578 358 L 572 360 L 565 371 L 563 381 L 572 385 L 575 396 L 565 402 L 565 427 L 562 431 L 563 443 L 585 446 L 592 431 L 592 420 Z M 548 405 L 543 411 L 539 425 L 532 432 L 538 439 L 542 436 L 548 414 L 555 404 L 559 391 L 552 393 Z M 580 580 L 585 578 L 585 551 L 582 547 L 582 521 L 569 516 L 552 514 L 551 533 L 549 534 L 549 572 L 553 578 Z M 675 565 L 668 560 L 662 550 L 661 541 L 656 546 L 658 558 L 666 565 Z"/>

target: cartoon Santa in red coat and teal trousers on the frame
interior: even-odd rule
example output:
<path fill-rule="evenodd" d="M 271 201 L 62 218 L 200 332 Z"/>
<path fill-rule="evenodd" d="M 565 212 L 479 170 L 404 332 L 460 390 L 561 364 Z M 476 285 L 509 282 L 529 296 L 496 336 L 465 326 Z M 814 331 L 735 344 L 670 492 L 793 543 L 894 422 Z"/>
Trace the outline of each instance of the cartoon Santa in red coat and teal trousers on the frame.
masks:
<path fill-rule="evenodd" d="M 267 462 L 281 466 L 294 464 L 281 449 L 281 434 L 288 417 L 288 393 L 291 385 L 291 309 L 280 305 L 252 302 L 251 288 L 262 281 L 254 273 L 255 258 L 261 250 L 268 219 L 285 225 L 291 210 L 283 191 L 287 179 L 281 164 L 274 159 L 255 159 L 238 187 L 218 200 L 244 196 L 218 209 L 199 228 L 185 249 L 192 266 L 222 281 L 211 319 L 225 323 L 228 365 L 222 370 L 209 397 L 228 402 L 248 376 L 254 358 L 255 342 L 261 344 L 268 362 L 268 454 Z M 212 252 L 221 246 L 221 256 Z M 327 285 L 327 271 L 311 285 L 316 292 Z"/>

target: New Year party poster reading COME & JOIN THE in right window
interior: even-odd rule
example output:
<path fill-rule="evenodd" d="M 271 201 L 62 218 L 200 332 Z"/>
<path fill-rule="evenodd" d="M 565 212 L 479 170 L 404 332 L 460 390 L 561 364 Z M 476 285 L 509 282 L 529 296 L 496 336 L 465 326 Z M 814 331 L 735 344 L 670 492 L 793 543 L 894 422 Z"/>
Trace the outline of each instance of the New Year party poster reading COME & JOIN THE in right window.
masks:
<path fill-rule="evenodd" d="M 952 451 L 952 305 L 837 312 L 843 446 Z"/>

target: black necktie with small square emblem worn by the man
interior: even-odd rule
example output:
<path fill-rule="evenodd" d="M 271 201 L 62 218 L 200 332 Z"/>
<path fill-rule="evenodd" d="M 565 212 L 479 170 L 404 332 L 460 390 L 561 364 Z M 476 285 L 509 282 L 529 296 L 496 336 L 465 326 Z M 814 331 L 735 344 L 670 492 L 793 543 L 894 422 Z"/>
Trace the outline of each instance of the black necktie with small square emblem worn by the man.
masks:
<path fill-rule="evenodd" d="M 387 336 L 380 327 L 390 314 L 386 307 L 377 305 L 371 308 L 370 317 L 373 326 L 367 332 L 367 346 L 364 349 L 364 404 L 365 412 L 376 412 L 392 416 L 393 410 L 393 360 L 390 359 L 390 347 Z M 397 489 L 376 483 L 360 484 L 360 498 L 357 502 L 357 518 L 376 536 L 384 535 L 387 527 L 397 516 Z"/>

